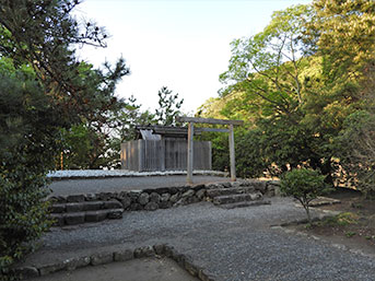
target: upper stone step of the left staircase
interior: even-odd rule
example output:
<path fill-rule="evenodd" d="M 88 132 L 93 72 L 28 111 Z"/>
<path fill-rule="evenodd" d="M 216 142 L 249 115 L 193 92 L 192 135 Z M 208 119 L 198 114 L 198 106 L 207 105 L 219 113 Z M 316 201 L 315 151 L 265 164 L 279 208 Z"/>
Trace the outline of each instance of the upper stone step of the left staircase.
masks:
<path fill-rule="evenodd" d="M 51 213 L 84 212 L 106 209 L 122 209 L 122 204 L 117 200 L 52 203 Z"/>

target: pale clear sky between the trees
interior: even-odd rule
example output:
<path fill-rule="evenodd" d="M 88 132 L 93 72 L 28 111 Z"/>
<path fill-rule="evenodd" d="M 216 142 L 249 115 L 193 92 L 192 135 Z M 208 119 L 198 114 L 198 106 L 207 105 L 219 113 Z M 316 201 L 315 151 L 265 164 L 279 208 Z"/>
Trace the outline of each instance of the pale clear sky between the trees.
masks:
<path fill-rule="evenodd" d="M 84 46 L 81 59 L 101 67 L 122 56 L 130 75 L 116 94 L 133 95 L 142 109 L 157 108 L 157 92 L 167 86 L 184 98 L 183 112 L 194 115 L 223 86 L 231 42 L 263 30 L 273 11 L 310 0 L 85 0 L 78 19 L 105 26 L 107 48 Z"/>

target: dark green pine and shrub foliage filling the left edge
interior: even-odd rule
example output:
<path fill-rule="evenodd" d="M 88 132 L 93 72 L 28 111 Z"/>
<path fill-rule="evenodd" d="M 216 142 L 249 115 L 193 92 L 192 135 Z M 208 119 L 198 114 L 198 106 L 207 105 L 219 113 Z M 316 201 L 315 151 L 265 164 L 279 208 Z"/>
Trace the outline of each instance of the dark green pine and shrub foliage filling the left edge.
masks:
<path fill-rule="evenodd" d="M 71 16 L 78 3 L 0 1 L 1 272 L 50 225 L 45 175 L 63 149 L 61 131 L 75 125 L 82 140 L 85 124 L 104 133 L 109 113 L 122 106 L 114 91 L 129 73 L 124 59 L 93 69 L 75 58 L 74 44 L 104 46 L 106 37 Z"/>

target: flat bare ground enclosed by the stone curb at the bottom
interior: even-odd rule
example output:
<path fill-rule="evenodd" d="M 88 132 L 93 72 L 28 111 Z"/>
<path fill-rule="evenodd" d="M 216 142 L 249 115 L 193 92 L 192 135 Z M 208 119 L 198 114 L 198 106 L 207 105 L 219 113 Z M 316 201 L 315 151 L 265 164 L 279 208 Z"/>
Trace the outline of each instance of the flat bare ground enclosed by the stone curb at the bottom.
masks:
<path fill-rule="evenodd" d="M 124 262 L 112 262 L 96 267 L 85 267 L 72 272 L 27 279 L 30 281 L 198 281 L 167 258 L 143 258 Z"/>

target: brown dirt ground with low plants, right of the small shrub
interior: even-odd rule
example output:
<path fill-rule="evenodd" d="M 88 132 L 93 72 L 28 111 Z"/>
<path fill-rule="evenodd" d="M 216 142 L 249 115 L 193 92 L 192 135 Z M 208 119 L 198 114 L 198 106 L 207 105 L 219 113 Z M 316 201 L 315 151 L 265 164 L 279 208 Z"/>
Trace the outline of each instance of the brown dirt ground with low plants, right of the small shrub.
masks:
<path fill-rule="evenodd" d="M 289 227 L 332 244 L 344 245 L 351 250 L 375 255 L 375 200 L 365 199 L 359 191 L 344 188 L 326 197 L 338 199 L 341 203 L 318 208 L 340 211 L 340 215 L 313 225 L 300 224 Z"/>

